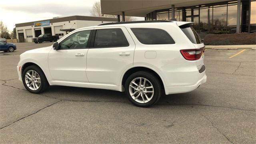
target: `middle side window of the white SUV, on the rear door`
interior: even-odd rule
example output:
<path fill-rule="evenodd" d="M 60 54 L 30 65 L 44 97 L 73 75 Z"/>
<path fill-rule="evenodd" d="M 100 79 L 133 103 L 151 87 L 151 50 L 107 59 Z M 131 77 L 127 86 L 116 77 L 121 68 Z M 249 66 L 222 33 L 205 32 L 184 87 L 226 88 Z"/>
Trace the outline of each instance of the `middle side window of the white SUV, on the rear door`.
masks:
<path fill-rule="evenodd" d="M 94 39 L 95 48 L 129 46 L 129 43 L 120 28 L 96 30 Z"/>

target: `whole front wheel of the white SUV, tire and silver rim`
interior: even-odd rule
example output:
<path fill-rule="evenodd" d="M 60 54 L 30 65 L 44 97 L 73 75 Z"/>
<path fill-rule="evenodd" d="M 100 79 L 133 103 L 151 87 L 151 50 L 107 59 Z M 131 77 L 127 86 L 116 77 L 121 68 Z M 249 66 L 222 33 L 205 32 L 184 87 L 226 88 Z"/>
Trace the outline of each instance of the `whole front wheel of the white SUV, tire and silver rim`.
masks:
<path fill-rule="evenodd" d="M 49 84 L 44 72 L 38 66 L 28 66 L 22 73 L 22 82 L 25 88 L 32 93 L 44 92 Z"/>

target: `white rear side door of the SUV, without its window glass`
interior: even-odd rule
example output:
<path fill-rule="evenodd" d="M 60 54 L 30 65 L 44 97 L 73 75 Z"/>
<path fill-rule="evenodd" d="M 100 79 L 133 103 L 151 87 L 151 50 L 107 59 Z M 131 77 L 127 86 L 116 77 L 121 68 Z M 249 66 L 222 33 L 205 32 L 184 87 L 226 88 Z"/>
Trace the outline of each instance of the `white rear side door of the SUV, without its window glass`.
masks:
<path fill-rule="evenodd" d="M 135 44 L 125 27 L 121 28 L 129 46 L 114 48 L 90 48 L 87 54 L 86 74 L 90 83 L 114 84 L 120 86 L 119 80 L 126 68 L 132 66 Z M 104 29 L 104 28 L 95 28 Z"/>

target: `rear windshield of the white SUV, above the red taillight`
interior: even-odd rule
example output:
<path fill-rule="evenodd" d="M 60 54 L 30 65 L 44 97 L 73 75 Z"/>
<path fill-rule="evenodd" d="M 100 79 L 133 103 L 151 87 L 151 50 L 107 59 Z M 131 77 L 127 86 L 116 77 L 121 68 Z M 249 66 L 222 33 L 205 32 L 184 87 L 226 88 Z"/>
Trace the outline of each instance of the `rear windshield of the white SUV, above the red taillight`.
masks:
<path fill-rule="evenodd" d="M 186 24 L 180 26 L 180 29 L 186 34 L 188 39 L 194 43 L 194 44 L 202 44 L 202 39 L 200 36 L 197 34 L 196 30 L 192 27 L 191 24 Z"/>

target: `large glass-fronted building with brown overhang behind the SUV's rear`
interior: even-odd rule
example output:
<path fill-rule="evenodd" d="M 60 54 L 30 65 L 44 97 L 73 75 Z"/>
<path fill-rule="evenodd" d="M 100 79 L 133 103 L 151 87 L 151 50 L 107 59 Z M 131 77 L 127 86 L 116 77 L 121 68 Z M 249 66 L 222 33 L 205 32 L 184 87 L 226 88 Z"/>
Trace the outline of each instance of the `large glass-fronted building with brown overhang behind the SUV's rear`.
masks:
<path fill-rule="evenodd" d="M 194 22 L 198 33 L 255 32 L 255 0 L 101 0 L 102 14 Z M 125 21 L 122 19 L 122 21 Z"/>

